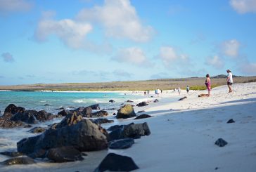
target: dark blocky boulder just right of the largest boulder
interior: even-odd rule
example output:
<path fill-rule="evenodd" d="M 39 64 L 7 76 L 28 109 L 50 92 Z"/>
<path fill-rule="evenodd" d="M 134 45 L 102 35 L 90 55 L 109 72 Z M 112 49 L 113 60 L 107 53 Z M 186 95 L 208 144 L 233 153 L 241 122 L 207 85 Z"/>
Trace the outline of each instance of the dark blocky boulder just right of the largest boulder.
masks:
<path fill-rule="evenodd" d="M 122 138 L 141 138 L 144 135 L 150 135 L 151 131 L 148 128 L 148 124 L 144 122 L 143 124 L 129 124 L 123 125 L 113 129 L 109 133 L 110 140 L 118 140 Z"/>

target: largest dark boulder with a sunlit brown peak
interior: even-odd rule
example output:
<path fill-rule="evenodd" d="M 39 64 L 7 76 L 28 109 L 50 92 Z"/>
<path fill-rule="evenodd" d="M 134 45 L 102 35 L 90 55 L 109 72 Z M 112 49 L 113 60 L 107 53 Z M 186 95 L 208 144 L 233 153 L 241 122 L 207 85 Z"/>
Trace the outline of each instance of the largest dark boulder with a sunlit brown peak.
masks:
<path fill-rule="evenodd" d="M 99 126 L 89 119 L 83 119 L 76 124 L 61 123 L 56 128 L 49 128 L 41 135 L 20 140 L 17 143 L 18 152 L 32 154 L 39 150 L 63 146 L 72 146 L 79 151 L 103 150 L 108 147 L 107 137 Z"/>

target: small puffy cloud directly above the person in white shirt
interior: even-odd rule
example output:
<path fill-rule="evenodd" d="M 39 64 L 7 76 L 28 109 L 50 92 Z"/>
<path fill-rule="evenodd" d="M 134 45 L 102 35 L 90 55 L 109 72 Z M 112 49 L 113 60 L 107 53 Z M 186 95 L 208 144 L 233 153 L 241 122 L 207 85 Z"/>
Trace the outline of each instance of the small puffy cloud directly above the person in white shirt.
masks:
<path fill-rule="evenodd" d="M 236 39 L 224 41 L 221 46 L 222 53 L 224 53 L 224 55 L 232 58 L 238 57 L 240 43 Z"/>

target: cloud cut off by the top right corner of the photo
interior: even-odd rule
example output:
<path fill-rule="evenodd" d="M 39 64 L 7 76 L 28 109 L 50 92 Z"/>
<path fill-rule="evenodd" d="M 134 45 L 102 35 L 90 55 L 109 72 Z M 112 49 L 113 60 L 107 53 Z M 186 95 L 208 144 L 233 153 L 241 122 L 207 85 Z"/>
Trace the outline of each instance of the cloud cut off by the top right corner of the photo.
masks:
<path fill-rule="evenodd" d="M 229 4 L 238 13 L 256 13 L 256 1 L 255 0 L 231 0 Z"/>

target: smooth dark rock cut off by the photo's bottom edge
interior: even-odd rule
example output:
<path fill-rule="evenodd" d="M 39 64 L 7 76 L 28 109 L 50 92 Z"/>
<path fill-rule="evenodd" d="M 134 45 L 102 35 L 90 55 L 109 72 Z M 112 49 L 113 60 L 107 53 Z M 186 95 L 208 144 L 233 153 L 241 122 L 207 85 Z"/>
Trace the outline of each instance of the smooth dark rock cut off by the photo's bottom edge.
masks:
<path fill-rule="evenodd" d="M 133 171 L 139 169 L 131 157 L 109 153 L 94 172 L 101 171 Z"/>

